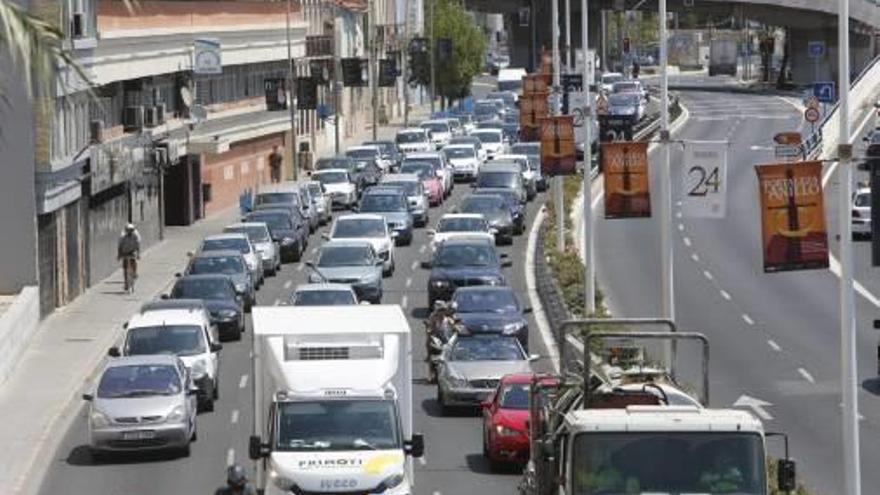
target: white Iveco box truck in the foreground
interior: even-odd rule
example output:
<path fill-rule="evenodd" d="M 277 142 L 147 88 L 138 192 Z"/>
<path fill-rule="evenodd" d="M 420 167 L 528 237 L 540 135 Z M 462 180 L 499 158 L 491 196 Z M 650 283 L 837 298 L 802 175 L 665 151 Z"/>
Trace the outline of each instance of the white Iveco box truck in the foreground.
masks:
<path fill-rule="evenodd" d="M 396 305 L 255 307 L 254 435 L 267 495 L 411 495 L 410 328 Z"/>

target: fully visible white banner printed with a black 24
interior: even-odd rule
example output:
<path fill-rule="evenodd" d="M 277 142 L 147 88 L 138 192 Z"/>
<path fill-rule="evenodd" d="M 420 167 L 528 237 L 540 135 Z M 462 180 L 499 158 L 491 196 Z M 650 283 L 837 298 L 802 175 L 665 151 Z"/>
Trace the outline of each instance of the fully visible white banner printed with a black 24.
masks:
<path fill-rule="evenodd" d="M 727 143 L 688 143 L 682 169 L 682 215 L 724 218 L 727 203 Z"/>

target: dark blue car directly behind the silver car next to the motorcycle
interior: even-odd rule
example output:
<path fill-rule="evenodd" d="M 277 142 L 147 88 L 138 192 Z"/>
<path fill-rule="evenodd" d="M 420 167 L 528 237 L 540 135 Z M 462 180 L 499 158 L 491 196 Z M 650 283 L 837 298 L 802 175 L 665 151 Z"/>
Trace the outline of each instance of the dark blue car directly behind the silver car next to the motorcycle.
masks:
<path fill-rule="evenodd" d="M 529 323 L 523 307 L 510 287 L 461 287 L 452 295 L 455 318 L 469 333 L 497 333 L 516 336 L 529 348 Z"/>

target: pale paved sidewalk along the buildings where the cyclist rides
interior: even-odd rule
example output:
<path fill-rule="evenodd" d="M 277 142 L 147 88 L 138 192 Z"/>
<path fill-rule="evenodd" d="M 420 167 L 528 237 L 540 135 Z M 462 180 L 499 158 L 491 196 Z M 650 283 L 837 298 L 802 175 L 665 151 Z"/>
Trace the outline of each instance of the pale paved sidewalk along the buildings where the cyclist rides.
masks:
<path fill-rule="evenodd" d="M 426 116 L 424 110 L 414 109 L 410 123 Z M 401 127 L 401 122 L 382 126 L 379 137 L 393 137 Z M 344 140 L 343 150 L 371 134 L 365 128 Z M 134 294 L 123 293 L 122 273 L 116 270 L 40 323 L 16 368 L 0 386 L 0 491 L 18 495 L 39 489 L 48 467 L 46 459 L 67 434 L 82 405 L 79 397 L 107 349 L 122 336 L 122 324 L 141 304 L 170 288 L 174 274 L 185 267 L 188 250 L 238 217 L 236 207 L 189 227 L 167 227 L 165 240 L 141 257 Z"/>

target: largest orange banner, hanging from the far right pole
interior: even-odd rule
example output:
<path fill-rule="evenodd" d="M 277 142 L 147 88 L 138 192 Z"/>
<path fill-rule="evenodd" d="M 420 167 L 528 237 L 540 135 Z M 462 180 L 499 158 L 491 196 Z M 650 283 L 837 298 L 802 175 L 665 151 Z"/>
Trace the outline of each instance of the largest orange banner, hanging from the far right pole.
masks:
<path fill-rule="evenodd" d="M 764 272 L 828 268 L 822 162 L 757 165 Z"/>

